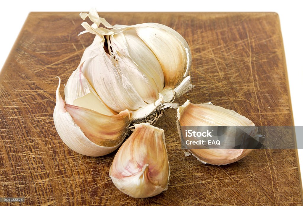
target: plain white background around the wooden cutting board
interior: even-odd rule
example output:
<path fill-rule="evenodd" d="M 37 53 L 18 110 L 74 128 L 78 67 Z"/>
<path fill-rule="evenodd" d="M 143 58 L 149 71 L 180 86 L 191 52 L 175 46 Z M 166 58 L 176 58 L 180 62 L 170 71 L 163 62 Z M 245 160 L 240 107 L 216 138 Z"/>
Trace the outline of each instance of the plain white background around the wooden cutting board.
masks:
<path fill-rule="evenodd" d="M 5 2 L 5 3 L 4 3 Z M 145 2 L 145 3 L 144 3 Z M 295 126 L 303 126 L 303 41 L 300 1 L 1 1 L 0 68 L 30 11 L 274 11 L 280 16 Z M 297 138 L 302 138 L 297 136 Z M 303 171 L 303 149 L 298 149 Z"/>

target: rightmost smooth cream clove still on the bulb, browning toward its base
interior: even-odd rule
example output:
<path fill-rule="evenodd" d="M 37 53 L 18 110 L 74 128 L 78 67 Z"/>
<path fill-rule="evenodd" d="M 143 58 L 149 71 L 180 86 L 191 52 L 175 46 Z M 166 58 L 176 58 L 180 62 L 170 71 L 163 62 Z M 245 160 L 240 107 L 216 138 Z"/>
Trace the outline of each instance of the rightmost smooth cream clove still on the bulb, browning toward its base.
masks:
<path fill-rule="evenodd" d="M 135 29 L 159 60 L 165 88 L 178 86 L 188 75 L 191 66 L 190 49 L 185 39 L 172 28 L 161 24 L 145 23 Z"/>

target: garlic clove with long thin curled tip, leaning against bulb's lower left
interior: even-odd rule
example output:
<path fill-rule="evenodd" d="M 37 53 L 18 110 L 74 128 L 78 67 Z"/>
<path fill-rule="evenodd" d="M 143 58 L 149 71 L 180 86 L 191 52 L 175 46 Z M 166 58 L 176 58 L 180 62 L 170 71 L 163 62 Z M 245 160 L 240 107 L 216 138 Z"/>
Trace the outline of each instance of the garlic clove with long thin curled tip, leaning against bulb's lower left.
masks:
<path fill-rule="evenodd" d="M 60 95 L 60 84 L 61 79 L 59 78 L 59 85 L 56 90 L 54 123 L 63 142 L 75 152 L 87 156 L 102 156 L 117 149 L 128 130 L 130 123 L 128 111 L 125 110 L 118 115 L 107 116 L 93 110 L 68 105 Z M 88 122 L 81 122 L 81 118 Z M 116 130 L 114 127 L 116 127 Z"/>

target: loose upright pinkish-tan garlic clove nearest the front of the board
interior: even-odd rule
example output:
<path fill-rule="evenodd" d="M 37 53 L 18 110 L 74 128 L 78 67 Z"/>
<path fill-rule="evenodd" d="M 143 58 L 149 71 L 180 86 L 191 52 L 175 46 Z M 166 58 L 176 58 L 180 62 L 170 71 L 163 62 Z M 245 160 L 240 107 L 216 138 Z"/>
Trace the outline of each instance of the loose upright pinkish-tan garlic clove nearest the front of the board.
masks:
<path fill-rule="evenodd" d="M 135 124 L 109 171 L 115 186 L 134 198 L 152 197 L 167 188 L 169 174 L 163 129 L 148 123 Z"/>

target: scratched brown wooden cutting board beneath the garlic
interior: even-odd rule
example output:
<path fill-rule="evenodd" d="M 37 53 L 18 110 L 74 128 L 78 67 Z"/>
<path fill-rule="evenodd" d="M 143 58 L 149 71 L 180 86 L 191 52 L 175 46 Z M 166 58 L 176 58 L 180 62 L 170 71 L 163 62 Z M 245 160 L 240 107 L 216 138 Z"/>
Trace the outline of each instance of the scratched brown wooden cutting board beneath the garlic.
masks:
<path fill-rule="evenodd" d="M 100 13 L 111 24 L 158 22 L 192 51 L 196 87 L 176 99 L 212 102 L 256 125 L 293 125 L 286 64 L 275 13 Z M 295 150 L 253 151 L 230 165 L 185 156 L 176 111 L 165 130 L 168 190 L 147 199 L 120 192 L 108 171 L 115 152 L 93 158 L 68 149 L 53 123 L 58 75 L 66 83 L 94 36 L 78 13 L 30 13 L 0 74 L 0 197 L 25 205 L 302 205 Z M 63 94 L 63 87 L 62 87 Z"/>

